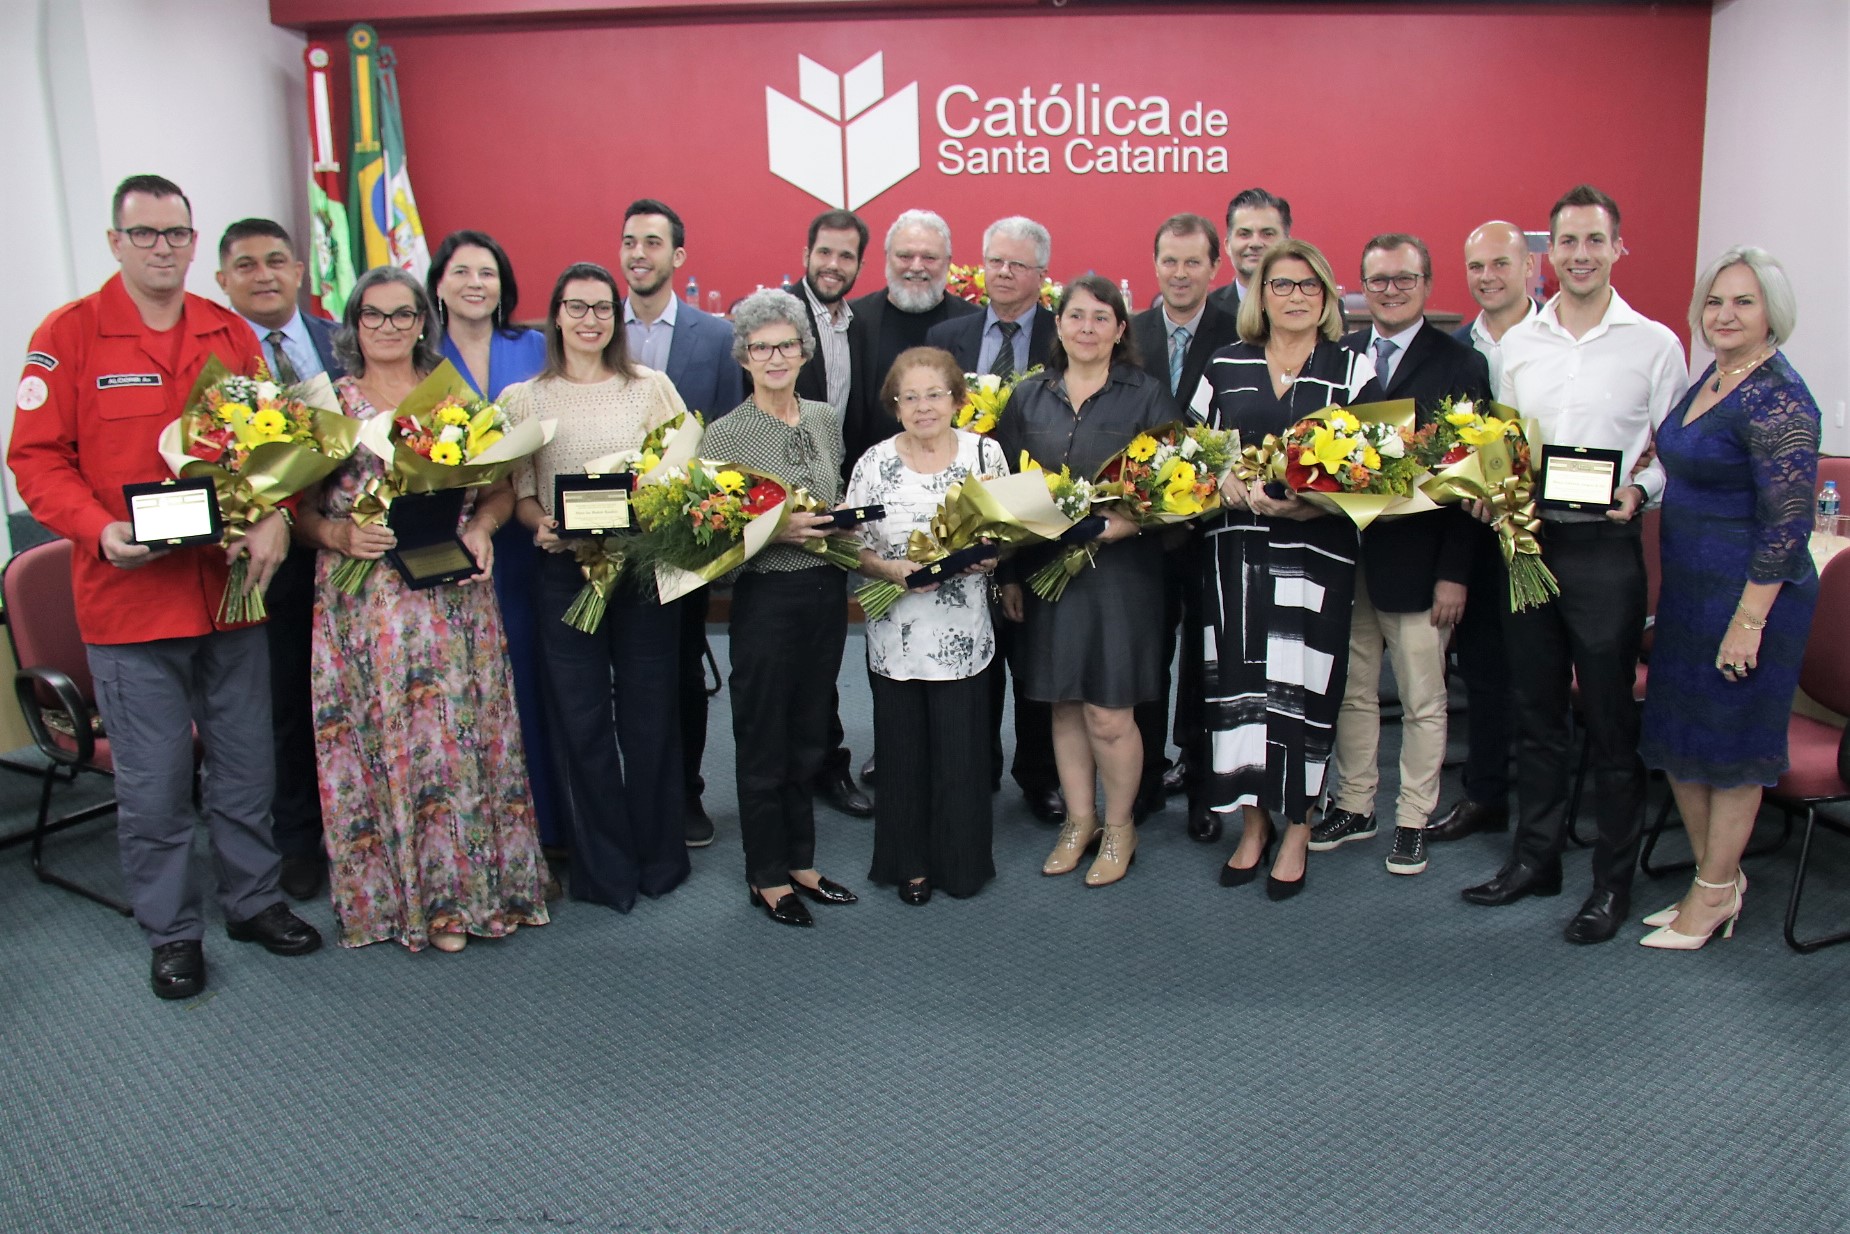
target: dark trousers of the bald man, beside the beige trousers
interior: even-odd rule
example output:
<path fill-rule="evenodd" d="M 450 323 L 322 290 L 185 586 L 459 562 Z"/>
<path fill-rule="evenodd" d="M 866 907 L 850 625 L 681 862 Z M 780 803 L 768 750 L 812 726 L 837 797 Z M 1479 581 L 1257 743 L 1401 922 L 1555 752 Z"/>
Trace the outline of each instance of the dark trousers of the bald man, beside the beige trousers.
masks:
<path fill-rule="evenodd" d="M 1510 805 L 1510 572 L 1489 527 L 1478 527 L 1465 616 L 1458 622 L 1458 673 L 1465 681 L 1465 796 L 1491 807 Z"/>

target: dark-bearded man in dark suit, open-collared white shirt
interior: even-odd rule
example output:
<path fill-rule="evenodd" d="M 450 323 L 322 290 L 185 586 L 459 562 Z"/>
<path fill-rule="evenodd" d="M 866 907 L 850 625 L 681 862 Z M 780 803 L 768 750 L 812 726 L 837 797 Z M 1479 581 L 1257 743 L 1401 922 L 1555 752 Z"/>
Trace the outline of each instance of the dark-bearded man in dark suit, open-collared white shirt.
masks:
<path fill-rule="evenodd" d="M 803 246 L 803 278 L 786 292 L 803 303 L 810 333 L 816 335 L 816 355 L 797 370 L 797 398 L 834 407 L 838 420 L 847 416 L 847 398 L 855 383 L 855 353 L 849 346 L 849 327 L 855 309 L 847 292 L 855 290 L 860 257 L 868 252 L 868 224 L 858 216 L 832 209 L 810 218 L 808 241 Z M 847 461 L 847 468 L 853 463 Z M 831 685 L 832 690 L 832 685 Z M 842 729 L 842 699 L 834 699 L 829 733 L 831 753 L 816 773 L 816 792 L 829 805 L 855 818 L 873 818 L 873 801 L 855 784 L 855 762 Z M 873 760 L 868 760 L 871 770 Z"/>

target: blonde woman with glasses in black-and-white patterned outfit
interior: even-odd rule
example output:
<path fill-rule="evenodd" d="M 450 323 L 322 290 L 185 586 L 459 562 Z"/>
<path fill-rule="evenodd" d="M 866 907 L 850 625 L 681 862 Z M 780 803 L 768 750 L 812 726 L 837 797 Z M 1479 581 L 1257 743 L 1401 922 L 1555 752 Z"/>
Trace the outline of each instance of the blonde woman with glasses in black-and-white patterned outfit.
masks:
<path fill-rule="evenodd" d="M 1332 403 L 1380 398 L 1375 364 L 1339 346 L 1343 309 L 1330 263 L 1314 244 L 1265 250 L 1240 302 L 1240 342 L 1208 361 L 1193 409 L 1256 446 Z M 1286 821 L 1265 895 L 1304 890 L 1310 810 L 1323 796 L 1336 714 L 1349 673 L 1356 527 L 1291 492 L 1221 485 L 1227 511 L 1206 527 L 1202 688 L 1208 803 L 1240 810 L 1243 831 L 1221 886 L 1258 875 Z"/>

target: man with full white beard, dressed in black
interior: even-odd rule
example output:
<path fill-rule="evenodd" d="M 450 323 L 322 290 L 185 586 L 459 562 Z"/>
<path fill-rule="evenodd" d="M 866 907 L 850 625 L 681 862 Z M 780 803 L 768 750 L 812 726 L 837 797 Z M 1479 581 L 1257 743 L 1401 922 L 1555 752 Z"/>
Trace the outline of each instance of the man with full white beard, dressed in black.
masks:
<path fill-rule="evenodd" d="M 886 229 L 886 287 L 849 305 L 855 311 L 847 331 L 855 381 L 842 424 L 844 474 L 868 446 L 899 431 L 892 407 L 881 407 L 881 385 L 899 353 L 923 346 L 932 326 L 980 313 L 968 300 L 944 294 L 949 278 L 951 224 L 929 209 L 899 215 Z"/>

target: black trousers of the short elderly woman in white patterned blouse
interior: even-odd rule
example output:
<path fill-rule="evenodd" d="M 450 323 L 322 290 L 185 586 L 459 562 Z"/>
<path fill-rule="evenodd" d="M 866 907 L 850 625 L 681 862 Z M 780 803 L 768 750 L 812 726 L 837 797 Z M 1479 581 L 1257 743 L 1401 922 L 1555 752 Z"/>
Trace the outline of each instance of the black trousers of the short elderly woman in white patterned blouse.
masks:
<path fill-rule="evenodd" d="M 949 895 L 975 895 L 995 877 L 990 853 L 993 799 L 982 775 L 990 664 L 962 681 L 873 685 L 873 740 L 881 796 L 873 803 L 873 868 L 879 884 L 929 879 Z"/>

